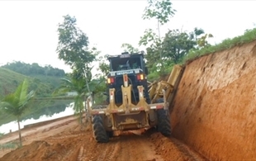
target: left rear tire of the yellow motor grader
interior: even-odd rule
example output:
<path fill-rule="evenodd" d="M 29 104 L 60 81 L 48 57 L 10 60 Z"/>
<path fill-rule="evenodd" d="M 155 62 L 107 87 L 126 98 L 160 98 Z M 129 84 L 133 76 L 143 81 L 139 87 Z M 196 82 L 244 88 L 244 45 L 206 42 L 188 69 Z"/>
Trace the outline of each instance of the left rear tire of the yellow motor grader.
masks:
<path fill-rule="evenodd" d="M 92 129 L 94 138 L 98 143 L 107 143 L 109 141 L 109 135 L 107 135 L 107 131 L 104 128 L 102 116 L 93 116 Z"/>

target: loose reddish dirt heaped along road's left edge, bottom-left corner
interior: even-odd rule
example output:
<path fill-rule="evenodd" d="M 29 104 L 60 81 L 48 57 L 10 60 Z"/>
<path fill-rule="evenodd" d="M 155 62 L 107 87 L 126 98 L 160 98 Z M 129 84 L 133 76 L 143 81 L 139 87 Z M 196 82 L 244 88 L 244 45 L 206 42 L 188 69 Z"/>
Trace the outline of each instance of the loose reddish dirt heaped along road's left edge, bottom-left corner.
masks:
<path fill-rule="evenodd" d="M 82 144 L 90 144 L 91 131 L 62 132 L 42 140 L 33 141 L 21 149 L 13 150 L 2 157 L 4 160 L 77 160 Z M 88 134 L 88 135 L 86 135 Z M 90 140 L 91 139 L 91 140 Z"/>

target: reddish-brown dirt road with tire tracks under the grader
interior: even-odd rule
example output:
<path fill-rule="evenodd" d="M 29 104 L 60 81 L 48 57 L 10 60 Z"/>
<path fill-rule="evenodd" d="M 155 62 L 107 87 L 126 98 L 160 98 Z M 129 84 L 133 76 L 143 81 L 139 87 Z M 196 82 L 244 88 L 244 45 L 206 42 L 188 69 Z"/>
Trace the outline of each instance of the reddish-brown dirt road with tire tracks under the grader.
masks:
<path fill-rule="evenodd" d="M 22 130 L 23 147 L 1 150 L 0 161 L 206 160 L 187 145 L 155 130 L 122 133 L 107 144 L 97 144 L 91 130 L 91 126 L 81 130 L 73 116 L 27 127 Z M 17 141 L 17 136 L 17 132 L 9 134 L 0 144 Z"/>

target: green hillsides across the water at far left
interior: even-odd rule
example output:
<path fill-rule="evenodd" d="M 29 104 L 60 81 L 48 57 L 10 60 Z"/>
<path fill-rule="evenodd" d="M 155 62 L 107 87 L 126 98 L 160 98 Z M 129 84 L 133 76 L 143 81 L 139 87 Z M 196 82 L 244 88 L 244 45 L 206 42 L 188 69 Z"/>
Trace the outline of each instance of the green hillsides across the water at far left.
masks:
<path fill-rule="evenodd" d="M 13 62 L 0 67 L 0 99 L 7 93 L 14 92 L 17 86 L 27 78 L 30 90 L 36 91 L 36 97 L 50 97 L 64 78 L 63 69 L 50 65 L 41 67 L 38 64 Z"/>

